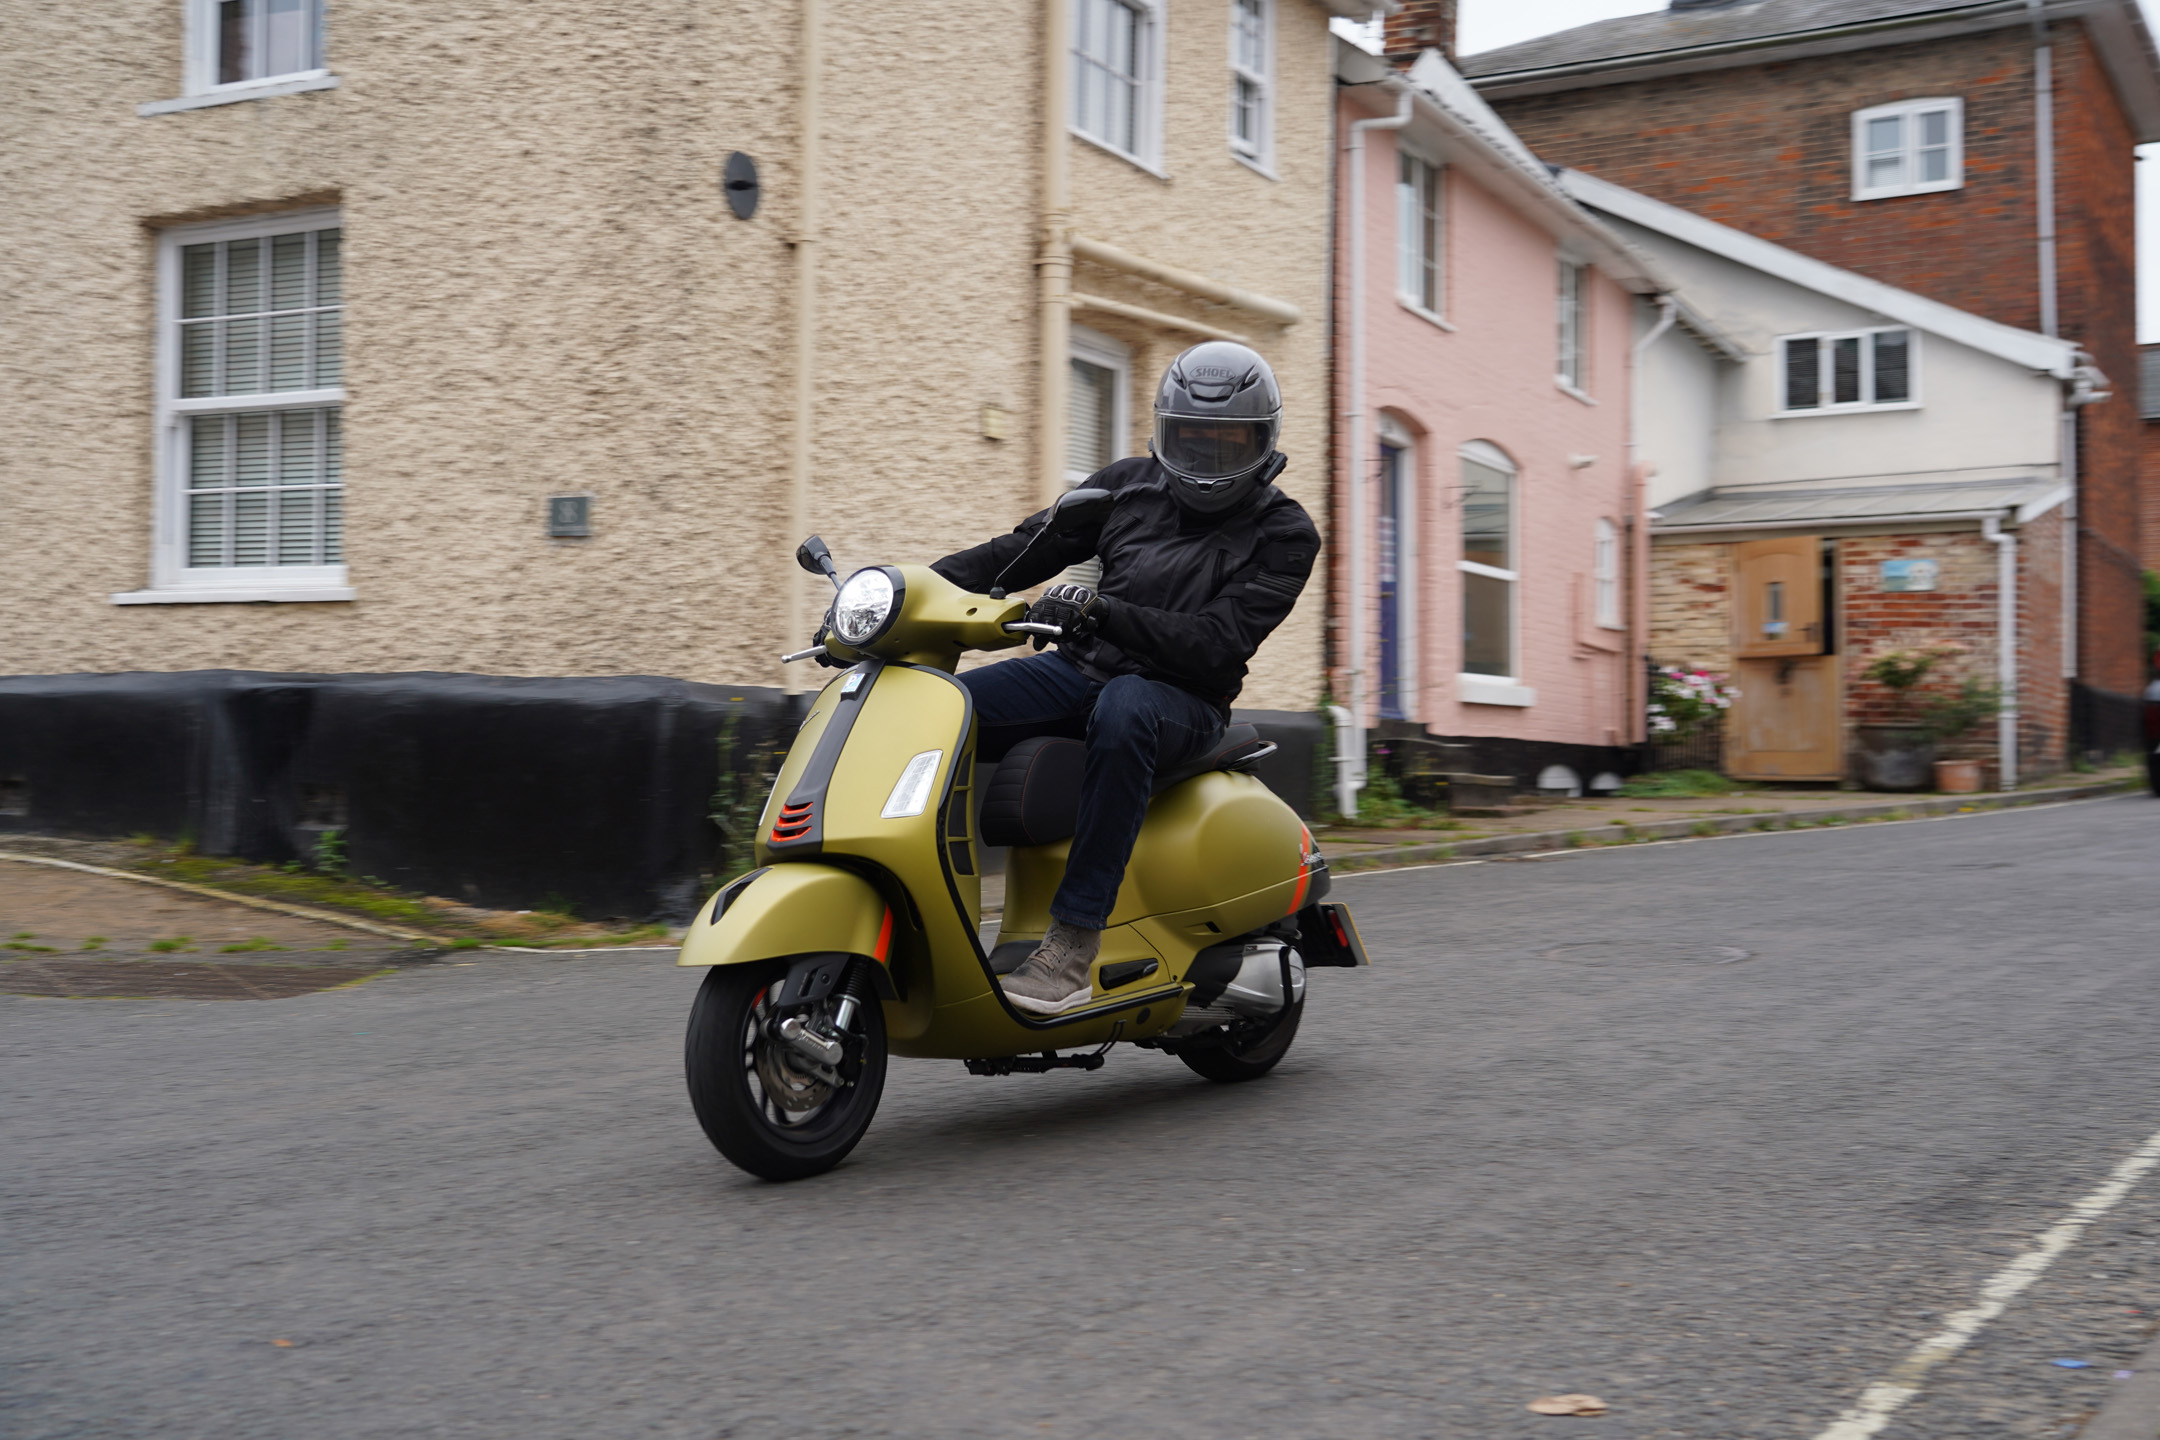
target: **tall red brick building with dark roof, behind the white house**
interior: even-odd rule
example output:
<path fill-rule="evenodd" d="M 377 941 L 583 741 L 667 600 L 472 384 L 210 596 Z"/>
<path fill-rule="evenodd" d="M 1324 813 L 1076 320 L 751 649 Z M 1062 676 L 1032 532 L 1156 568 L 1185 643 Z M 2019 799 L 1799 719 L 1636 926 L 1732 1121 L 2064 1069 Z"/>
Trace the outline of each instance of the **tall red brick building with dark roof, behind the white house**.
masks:
<path fill-rule="evenodd" d="M 2156 544 L 2132 147 L 2160 140 L 2160 56 L 2136 0 L 1674 0 L 1458 65 L 1549 162 L 2093 356 L 2112 395 L 2074 421 L 2065 674 L 2106 745 L 2145 684 Z"/>

